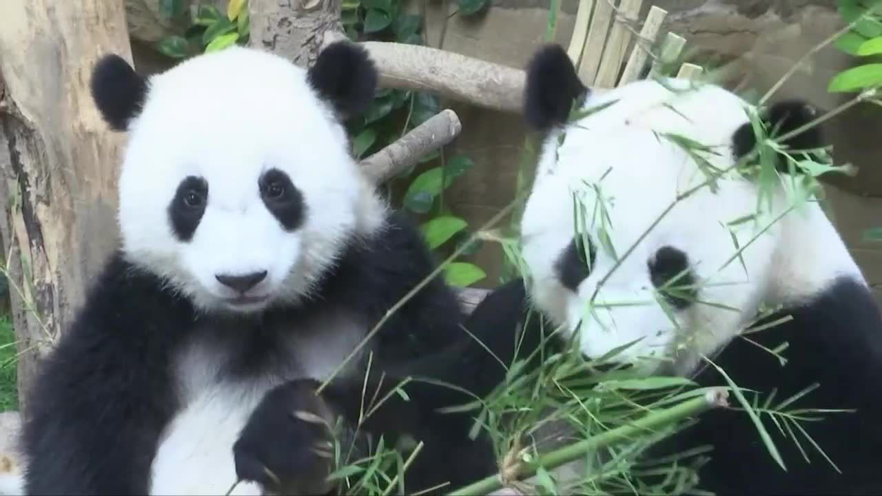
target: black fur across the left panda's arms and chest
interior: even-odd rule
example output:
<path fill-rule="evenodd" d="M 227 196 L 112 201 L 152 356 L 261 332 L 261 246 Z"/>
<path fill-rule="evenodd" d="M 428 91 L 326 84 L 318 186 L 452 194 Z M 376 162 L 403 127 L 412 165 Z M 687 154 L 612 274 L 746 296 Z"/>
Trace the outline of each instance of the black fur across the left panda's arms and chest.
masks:
<path fill-rule="evenodd" d="M 352 240 L 310 302 L 277 308 L 253 319 L 240 316 L 232 326 L 236 332 L 218 338 L 235 344 L 225 348 L 235 350 L 235 356 L 221 373 L 247 379 L 283 371 L 286 357 L 276 346 L 280 336 L 273 334 L 273 329 L 282 332 L 279 329 L 283 327 L 272 326 L 273 320 L 297 322 L 314 312 L 345 309 L 363 318 L 370 328 L 432 269 L 419 230 L 400 214 L 392 214 L 383 232 Z M 373 338 L 371 377 L 385 370 L 394 377 L 428 372 L 476 395 L 486 394 L 504 377 L 505 369 L 460 325 L 509 361 L 514 348 L 512 328 L 519 319 L 510 303 L 522 300 L 523 291 L 519 283 L 500 289 L 497 297 L 488 297 L 467 320 L 452 289 L 442 279 L 434 279 L 392 314 Z M 502 307 L 505 312 L 500 311 Z M 146 493 L 161 430 L 179 408 L 172 392 L 169 357 L 194 333 L 223 328 L 217 319 L 221 318 L 194 312 L 191 304 L 175 297 L 163 282 L 136 270 L 117 254 L 89 290 L 85 308 L 47 358 L 28 395 L 26 491 Z M 329 404 L 339 405 L 344 417 L 357 418 L 360 405 L 353 404 L 353 397 L 346 394 L 357 387 L 360 398 L 361 385 L 360 379 L 334 380 L 326 393 L 331 398 Z M 436 411 L 460 398 L 470 401 L 470 397 L 445 394 L 446 388 L 420 381 L 408 383 L 405 390 L 410 402 L 384 405 L 382 413 L 363 428 L 388 440 L 401 433 L 424 440 L 415 465 L 408 470 L 408 492 L 444 481 L 461 485 L 493 473 L 496 464 L 489 440 L 467 437 L 475 412 L 453 415 Z M 280 395 L 285 401 L 291 397 L 284 390 Z M 310 408 L 309 403 L 295 406 Z M 255 418 L 262 417 L 261 412 L 265 410 L 256 412 Z M 270 417 L 275 418 L 273 415 Z M 289 448 L 288 441 L 315 440 L 303 434 L 309 431 L 297 427 L 290 430 L 280 425 L 278 429 L 243 432 L 240 448 L 262 447 L 250 452 L 240 449 L 240 454 L 252 454 L 250 459 L 237 459 L 242 462 L 238 469 L 243 474 L 253 473 L 255 460 L 271 463 L 263 457 L 277 453 L 282 444 Z"/>

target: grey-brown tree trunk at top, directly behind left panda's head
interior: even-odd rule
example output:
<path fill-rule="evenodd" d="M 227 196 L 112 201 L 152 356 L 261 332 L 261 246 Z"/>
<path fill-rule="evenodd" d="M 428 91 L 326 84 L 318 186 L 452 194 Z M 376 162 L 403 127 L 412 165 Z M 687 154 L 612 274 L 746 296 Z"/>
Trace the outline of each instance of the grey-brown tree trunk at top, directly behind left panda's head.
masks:
<path fill-rule="evenodd" d="M 310 67 L 325 32 L 342 32 L 341 0 L 250 0 L 250 44 Z"/>

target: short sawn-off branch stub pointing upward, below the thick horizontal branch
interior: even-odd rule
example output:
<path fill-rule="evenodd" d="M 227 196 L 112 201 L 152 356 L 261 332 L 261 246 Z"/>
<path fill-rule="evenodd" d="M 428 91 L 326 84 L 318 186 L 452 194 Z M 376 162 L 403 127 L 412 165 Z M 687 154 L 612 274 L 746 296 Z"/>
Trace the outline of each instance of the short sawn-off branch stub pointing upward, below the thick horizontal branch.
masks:
<path fill-rule="evenodd" d="M 361 166 L 377 184 L 385 183 L 414 165 L 423 155 L 450 143 L 461 130 L 456 112 L 442 110 L 388 147 L 364 159 Z"/>

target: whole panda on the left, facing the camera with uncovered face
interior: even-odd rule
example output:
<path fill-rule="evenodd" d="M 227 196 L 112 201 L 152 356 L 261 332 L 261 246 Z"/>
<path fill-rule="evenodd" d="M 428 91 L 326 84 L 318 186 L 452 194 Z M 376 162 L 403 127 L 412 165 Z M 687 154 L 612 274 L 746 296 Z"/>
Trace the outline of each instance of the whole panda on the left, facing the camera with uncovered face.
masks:
<path fill-rule="evenodd" d="M 495 470 L 471 419 L 437 411 L 471 397 L 392 394 L 429 376 L 486 395 L 505 370 L 462 327 L 503 357 L 509 340 L 439 278 L 387 315 L 434 266 L 349 154 L 342 122 L 376 80 L 348 42 L 308 71 L 236 47 L 149 79 L 95 66 L 97 108 L 129 132 L 122 246 L 27 396 L 26 493 L 331 492 L 338 416 L 357 447 L 424 443 L 407 492 Z M 371 397 L 386 401 L 364 417 Z"/>

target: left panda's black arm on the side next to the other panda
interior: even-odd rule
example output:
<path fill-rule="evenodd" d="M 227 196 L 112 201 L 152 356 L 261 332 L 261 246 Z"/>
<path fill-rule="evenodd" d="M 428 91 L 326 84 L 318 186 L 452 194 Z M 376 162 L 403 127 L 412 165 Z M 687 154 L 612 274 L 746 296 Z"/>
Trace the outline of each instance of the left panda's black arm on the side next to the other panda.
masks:
<path fill-rule="evenodd" d="M 392 214 L 389 224 L 382 237 L 350 252 L 340 266 L 340 274 L 351 274 L 339 278 L 349 282 L 340 293 L 347 297 L 341 299 L 371 322 L 382 319 L 387 309 L 437 267 L 422 234 L 402 214 Z M 409 375 L 470 392 L 412 380 L 403 387 L 409 401 L 388 395 L 382 407 L 364 421 L 363 430 L 387 437 L 407 433 L 423 441 L 420 455 L 408 470 L 408 490 L 444 482 L 462 485 L 496 470 L 490 440 L 483 434 L 477 440 L 467 436 L 477 412 L 437 410 L 484 397 L 504 380 L 506 370 L 500 361 L 512 363 L 525 309 L 523 282 L 517 280 L 491 293 L 467 317 L 439 275 L 381 327 L 373 346 L 376 368 L 370 373 L 370 396 L 378 387 L 376 397 L 385 397 L 399 379 Z M 519 353 L 528 354 L 537 342 L 536 334 L 527 333 Z M 379 371 L 387 373 L 382 383 Z M 345 417 L 357 419 L 363 383 L 335 380 L 332 385 L 327 397 Z"/>

